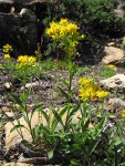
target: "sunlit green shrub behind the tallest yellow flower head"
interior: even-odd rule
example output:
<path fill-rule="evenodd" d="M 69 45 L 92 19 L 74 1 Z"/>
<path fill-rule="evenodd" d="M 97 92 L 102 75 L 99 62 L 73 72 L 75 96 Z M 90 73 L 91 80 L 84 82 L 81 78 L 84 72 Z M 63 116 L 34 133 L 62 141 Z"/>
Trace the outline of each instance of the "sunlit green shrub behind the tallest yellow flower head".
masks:
<path fill-rule="evenodd" d="M 53 7 L 53 8 L 52 8 Z M 112 0 L 63 0 L 48 6 L 51 20 L 67 18 L 76 21 L 83 29 L 103 29 L 104 32 L 121 29 L 124 19 L 116 18 L 114 14 L 114 3 Z M 45 20 L 44 20 L 45 21 Z M 111 29 L 112 28 L 112 29 Z"/>

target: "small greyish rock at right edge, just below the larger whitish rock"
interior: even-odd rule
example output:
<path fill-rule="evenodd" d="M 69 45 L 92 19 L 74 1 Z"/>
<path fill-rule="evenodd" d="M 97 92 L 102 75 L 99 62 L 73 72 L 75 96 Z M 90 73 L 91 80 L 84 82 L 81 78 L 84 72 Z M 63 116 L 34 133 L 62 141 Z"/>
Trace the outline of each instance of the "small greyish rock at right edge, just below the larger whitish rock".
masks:
<path fill-rule="evenodd" d="M 113 106 L 115 108 L 125 108 L 125 101 L 114 97 L 108 100 L 107 105 Z"/>

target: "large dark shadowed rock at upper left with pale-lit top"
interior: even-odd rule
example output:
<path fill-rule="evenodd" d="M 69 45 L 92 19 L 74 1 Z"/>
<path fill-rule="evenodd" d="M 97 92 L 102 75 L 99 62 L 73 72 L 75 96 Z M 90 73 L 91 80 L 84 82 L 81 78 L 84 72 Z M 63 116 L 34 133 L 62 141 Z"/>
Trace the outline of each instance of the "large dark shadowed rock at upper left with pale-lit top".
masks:
<path fill-rule="evenodd" d="M 35 14 L 28 9 L 22 9 L 19 14 L 0 13 L 0 42 L 7 43 L 4 39 L 11 40 L 11 45 L 18 44 L 15 52 L 34 53 L 38 43 Z"/>

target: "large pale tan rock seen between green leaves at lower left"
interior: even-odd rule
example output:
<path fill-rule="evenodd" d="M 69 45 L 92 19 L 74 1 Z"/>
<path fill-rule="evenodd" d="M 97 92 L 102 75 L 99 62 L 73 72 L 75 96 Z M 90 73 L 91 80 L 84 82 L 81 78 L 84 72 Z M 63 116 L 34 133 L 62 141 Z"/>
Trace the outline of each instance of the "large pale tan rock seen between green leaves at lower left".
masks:
<path fill-rule="evenodd" d="M 59 111 L 59 110 L 58 110 L 58 111 Z M 45 108 L 44 112 L 46 112 L 46 113 L 49 114 L 49 113 L 50 113 L 50 110 L 49 110 L 49 108 Z M 30 116 L 31 116 L 31 113 L 29 113 L 29 117 L 30 117 Z M 81 117 L 81 113 L 80 113 L 80 111 L 77 111 L 77 112 L 75 113 L 75 115 L 74 115 L 72 122 L 73 122 L 73 123 L 77 123 L 80 117 Z M 51 115 L 51 121 L 52 121 L 52 118 L 53 118 L 53 116 Z M 24 121 L 23 117 L 21 117 L 19 121 L 20 121 L 21 125 L 24 125 L 24 126 L 28 127 L 28 125 L 27 125 L 27 123 L 25 123 L 25 121 Z M 35 112 L 35 113 L 33 114 L 33 117 L 32 117 L 32 121 L 31 121 L 31 126 L 32 126 L 32 128 L 33 128 L 37 124 L 39 124 L 40 121 L 42 122 L 43 125 L 46 125 L 45 118 L 42 116 L 42 120 L 40 120 L 40 117 L 39 117 L 39 112 Z M 64 114 L 64 116 L 63 116 L 63 122 L 65 122 L 65 121 L 66 121 L 66 114 Z M 17 121 L 13 121 L 13 124 L 17 125 Z M 22 141 L 21 136 L 19 135 L 19 133 L 18 133 L 17 131 L 14 131 L 14 132 L 12 132 L 12 133 L 10 132 L 12 127 L 13 127 L 13 125 L 12 125 L 12 123 L 10 123 L 10 122 L 4 125 L 4 128 L 6 128 L 6 149 L 7 149 L 7 152 L 8 152 L 11 147 L 13 147 L 14 145 L 19 144 L 19 143 Z M 90 124 L 90 127 L 92 127 L 92 124 Z M 61 129 L 61 125 L 60 125 L 60 124 L 58 124 L 56 129 L 58 129 L 58 131 Z M 29 131 L 25 129 L 25 128 L 21 128 L 21 131 L 22 131 L 23 138 L 27 139 L 27 141 L 29 141 L 29 142 L 32 142 L 32 138 L 31 138 L 31 135 L 30 135 Z"/>

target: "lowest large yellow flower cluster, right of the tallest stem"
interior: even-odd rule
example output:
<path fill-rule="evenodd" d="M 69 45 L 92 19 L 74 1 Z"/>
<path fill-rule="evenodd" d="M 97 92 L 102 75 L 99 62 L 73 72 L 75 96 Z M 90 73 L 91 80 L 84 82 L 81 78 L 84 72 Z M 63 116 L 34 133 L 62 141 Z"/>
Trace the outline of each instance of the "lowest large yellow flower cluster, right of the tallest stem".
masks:
<path fill-rule="evenodd" d="M 81 77 L 79 80 L 79 84 L 81 85 L 81 89 L 79 90 L 80 97 L 83 101 L 94 100 L 97 97 L 104 98 L 110 94 L 107 91 L 102 91 L 101 87 L 94 83 L 93 79 Z"/>

